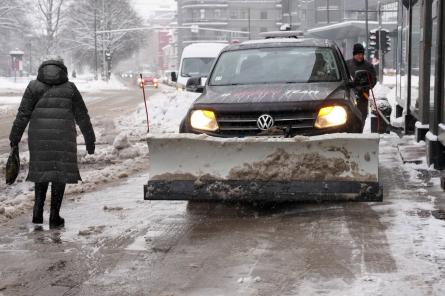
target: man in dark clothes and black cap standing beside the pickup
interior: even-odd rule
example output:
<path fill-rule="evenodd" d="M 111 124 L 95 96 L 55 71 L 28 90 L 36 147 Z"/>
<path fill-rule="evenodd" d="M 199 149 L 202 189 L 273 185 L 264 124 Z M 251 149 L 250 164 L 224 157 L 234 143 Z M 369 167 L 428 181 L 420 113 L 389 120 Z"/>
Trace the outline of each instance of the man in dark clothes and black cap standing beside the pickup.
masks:
<path fill-rule="evenodd" d="M 352 77 L 355 76 L 355 72 L 358 70 L 366 70 L 370 73 L 371 77 L 371 88 L 377 83 L 377 73 L 375 71 L 374 66 L 365 60 L 365 48 L 360 43 L 354 44 L 354 50 L 352 52 L 352 59 L 347 61 L 349 74 Z M 360 99 L 357 102 L 357 107 L 362 113 L 362 122 L 363 126 L 365 125 L 366 117 L 368 116 L 368 96 L 369 90 L 363 90 L 362 94 L 360 94 Z"/>

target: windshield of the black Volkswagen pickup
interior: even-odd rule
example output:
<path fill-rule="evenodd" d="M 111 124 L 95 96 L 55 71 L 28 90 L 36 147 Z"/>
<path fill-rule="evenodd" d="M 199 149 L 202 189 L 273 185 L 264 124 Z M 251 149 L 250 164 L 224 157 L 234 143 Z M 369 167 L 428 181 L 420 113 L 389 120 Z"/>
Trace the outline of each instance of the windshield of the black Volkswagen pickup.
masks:
<path fill-rule="evenodd" d="M 339 81 L 332 49 L 275 47 L 228 51 L 219 58 L 210 85 Z"/>

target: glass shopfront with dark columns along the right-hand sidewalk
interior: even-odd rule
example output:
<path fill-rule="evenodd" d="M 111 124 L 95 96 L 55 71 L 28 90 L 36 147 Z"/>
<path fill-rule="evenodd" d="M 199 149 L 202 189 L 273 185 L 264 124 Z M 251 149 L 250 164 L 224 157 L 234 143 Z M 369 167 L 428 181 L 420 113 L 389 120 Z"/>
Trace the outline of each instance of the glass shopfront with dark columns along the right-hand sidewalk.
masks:
<path fill-rule="evenodd" d="M 428 164 L 445 169 L 445 4 L 400 1 L 398 6 L 397 116 L 424 140 Z"/>

